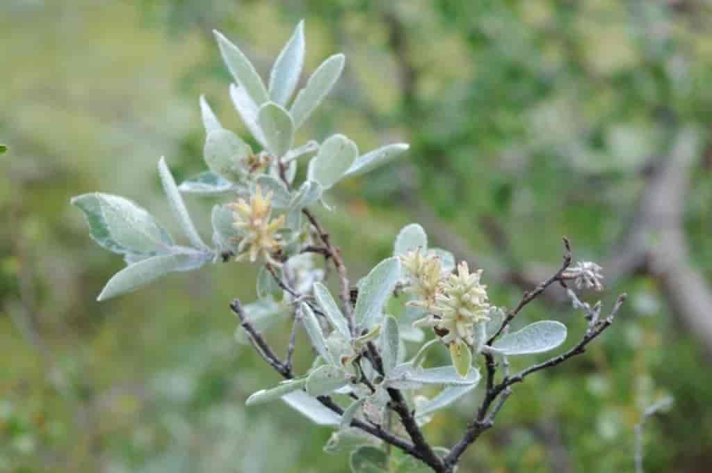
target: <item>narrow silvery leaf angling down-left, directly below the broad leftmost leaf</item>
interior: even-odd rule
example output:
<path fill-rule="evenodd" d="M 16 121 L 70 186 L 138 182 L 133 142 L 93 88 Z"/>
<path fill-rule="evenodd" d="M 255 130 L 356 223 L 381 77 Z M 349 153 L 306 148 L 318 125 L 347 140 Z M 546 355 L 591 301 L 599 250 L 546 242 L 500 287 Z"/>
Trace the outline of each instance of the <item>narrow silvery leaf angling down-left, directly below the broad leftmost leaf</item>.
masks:
<path fill-rule="evenodd" d="M 198 269 L 211 261 L 211 259 L 211 254 L 197 251 L 151 256 L 126 266 L 115 274 L 104 286 L 97 301 L 105 301 L 133 291 L 174 271 Z"/>

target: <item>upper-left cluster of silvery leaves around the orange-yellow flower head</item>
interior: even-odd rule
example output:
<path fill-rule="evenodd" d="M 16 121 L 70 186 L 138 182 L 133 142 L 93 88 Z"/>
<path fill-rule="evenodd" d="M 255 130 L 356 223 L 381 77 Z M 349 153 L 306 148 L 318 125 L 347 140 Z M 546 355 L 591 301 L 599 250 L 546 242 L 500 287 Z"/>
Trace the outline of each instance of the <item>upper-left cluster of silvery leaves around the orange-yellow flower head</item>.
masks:
<path fill-rule="evenodd" d="M 305 87 L 290 102 L 304 61 L 303 24 L 278 56 L 266 88 L 255 68 L 227 38 L 216 32 L 226 65 L 236 83 L 230 95 L 236 110 L 253 138 L 263 147 L 253 152 L 238 135 L 226 130 L 201 98 L 201 112 L 207 133 L 204 159 L 209 171 L 176 184 L 166 162 L 158 163 L 163 189 L 191 246 L 174 243 L 169 233 L 152 215 L 123 197 L 92 193 L 72 199 L 85 212 L 91 236 L 105 249 L 124 256 L 127 267 L 105 286 L 100 301 L 132 291 L 165 274 L 191 271 L 221 261 L 226 252 L 234 253 L 245 237 L 234 226 L 229 206 L 216 205 L 212 211 L 213 246 L 201 238 L 189 216 L 181 192 L 187 194 L 251 196 L 256 188 L 271 195 L 271 207 L 286 217 L 281 229 L 283 254 L 288 261 L 298 254 L 305 234 L 301 211 L 323 198 L 323 193 L 345 177 L 360 175 L 382 165 L 407 150 L 404 144 L 380 147 L 359 154 L 354 142 L 344 135 L 333 135 L 323 143 L 313 140 L 293 147 L 295 132 L 320 105 L 337 78 L 345 58 L 327 58 L 310 76 Z M 300 158 L 312 156 L 308 178 L 293 189 Z"/>

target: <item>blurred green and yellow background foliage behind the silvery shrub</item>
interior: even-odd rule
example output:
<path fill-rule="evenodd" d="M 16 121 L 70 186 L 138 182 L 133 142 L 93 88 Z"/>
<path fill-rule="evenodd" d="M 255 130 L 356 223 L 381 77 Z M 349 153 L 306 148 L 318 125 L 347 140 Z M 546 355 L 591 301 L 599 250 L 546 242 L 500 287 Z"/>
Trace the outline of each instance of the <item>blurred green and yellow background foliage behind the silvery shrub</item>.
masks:
<path fill-rule="evenodd" d="M 68 204 L 102 190 L 170 222 L 155 165 L 203 169 L 199 94 L 244 130 L 211 29 L 266 77 L 301 18 L 306 71 L 336 51 L 347 68 L 300 138 L 412 143 L 320 211 L 352 279 L 418 221 L 485 269 L 498 305 L 559 263 L 562 235 L 604 265 L 605 304 L 630 295 L 587 355 L 515 388 L 461 471 L 633 471 L 634 425 L 664 395 L 675 403 L 646 425 L 646 471 L 709 471 L 706 0 L 1 1 L 0 471 L 347 471 L 347 454 L 322 451 L 330 430 L 280 402 L 244 407 L 278 381 L 233 337 L 227 303 L 254 298 L 251 267 L 97 303 L 122 261 Z M 211 204 L 189 199 L 205 234 Z M 571 340 L 584 329 L 555 293 L 522 314 L 544 316 Z M 476 397 L 436 415 L 436 445 Z"/>

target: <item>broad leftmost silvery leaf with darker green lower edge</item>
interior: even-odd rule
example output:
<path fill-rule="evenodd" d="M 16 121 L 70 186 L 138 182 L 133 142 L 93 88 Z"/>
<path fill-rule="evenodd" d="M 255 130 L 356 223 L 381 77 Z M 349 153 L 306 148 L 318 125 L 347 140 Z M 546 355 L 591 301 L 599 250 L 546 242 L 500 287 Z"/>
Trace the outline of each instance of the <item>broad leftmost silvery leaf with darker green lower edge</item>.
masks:
<path fill-rule="evenodd" d="M 74 197 L 71 203 L 83 210 L 91 237 L 109 251 L 150 256 L 165 253 L 173 244 L 151 214 L 128 199 L 95 192 Z"/>

